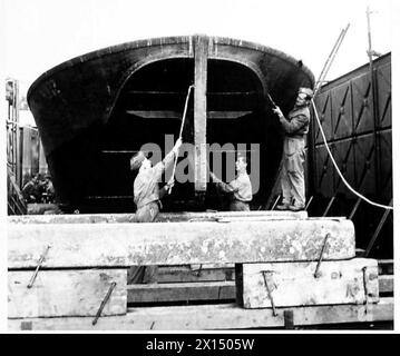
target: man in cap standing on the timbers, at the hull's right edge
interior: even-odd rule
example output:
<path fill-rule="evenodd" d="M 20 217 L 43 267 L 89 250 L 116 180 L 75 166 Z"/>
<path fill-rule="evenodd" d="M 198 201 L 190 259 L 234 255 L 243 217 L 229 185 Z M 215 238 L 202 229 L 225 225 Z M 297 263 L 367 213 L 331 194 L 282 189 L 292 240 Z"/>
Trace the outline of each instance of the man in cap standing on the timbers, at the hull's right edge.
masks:
<path fill-rule="evenodd" d="M 285 118 L 279 107 L 273 111 L 279 116 L 285 132 L 283 144 L 283 170 L 281 175 L 282 204 L 279 210 L 303 210 L 305 207 L 304 159 L 305 136 L 309 132 L 309 105 L 313 96 L 310 88 L 300 88 L 293 109 Z"/>

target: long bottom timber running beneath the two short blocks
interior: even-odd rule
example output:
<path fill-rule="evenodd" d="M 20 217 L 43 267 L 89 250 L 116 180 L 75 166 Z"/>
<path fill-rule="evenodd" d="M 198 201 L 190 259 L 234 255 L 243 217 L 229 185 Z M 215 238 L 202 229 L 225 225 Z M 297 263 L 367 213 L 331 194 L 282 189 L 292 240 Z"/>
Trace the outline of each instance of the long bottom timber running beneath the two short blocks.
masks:
<path fill-rule="evenodd" d="M 378 304 L 243 309 L 236 304 L 128 308 L 125 316 L 109 316 L 91 325 L 91 318 L 35 318 L 33 330 L 206 330 L 284 327 L 284 312 L 293 312 L 294 326 L 393 320 L 393 298 Z M 173 322 L 172 322 L 173 320 Z M 9 330 L 20 330 L 25 319 L 9 319 Z"/>

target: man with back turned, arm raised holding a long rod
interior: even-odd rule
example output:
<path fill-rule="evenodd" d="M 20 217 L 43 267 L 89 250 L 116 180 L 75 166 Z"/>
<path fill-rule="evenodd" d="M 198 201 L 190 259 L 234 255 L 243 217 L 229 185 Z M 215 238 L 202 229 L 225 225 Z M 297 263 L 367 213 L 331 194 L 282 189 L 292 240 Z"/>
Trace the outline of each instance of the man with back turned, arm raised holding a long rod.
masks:
<path fill-rule="evenodd" d="M 138 151 L 130 158 L 130 169 L 139 170 L 134 181 L 136 214 L 131 219 L 133 222 L 153 222 L 156 220 L 162 205 L 160 199 L 174 180 L 169 180 L 162 189 L 159 189 L 158 182 L 162 181 L 163 172 L 174 162 L 181 146 L 182 139 L 179 138 L 170 152 L 154 167 L 152 167 L 152 161 L 147 159 L 144 151 Z M 149 283 L 156 274 L 157 266 L 133 266 L 129 270 L 128 283 Z"/>

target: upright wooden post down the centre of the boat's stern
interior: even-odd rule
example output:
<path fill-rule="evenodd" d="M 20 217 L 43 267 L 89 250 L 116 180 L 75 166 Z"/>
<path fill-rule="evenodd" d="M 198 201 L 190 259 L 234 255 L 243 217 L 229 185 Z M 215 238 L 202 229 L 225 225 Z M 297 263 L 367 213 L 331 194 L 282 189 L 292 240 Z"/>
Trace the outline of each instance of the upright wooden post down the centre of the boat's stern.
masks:
<path fill-rule="evenodd" d="M 194 162 L 195 191 L 205 192 L 207 188 L 207 57 L 208 38 L 194 36 L 195 96 L 194 96 Z"/>

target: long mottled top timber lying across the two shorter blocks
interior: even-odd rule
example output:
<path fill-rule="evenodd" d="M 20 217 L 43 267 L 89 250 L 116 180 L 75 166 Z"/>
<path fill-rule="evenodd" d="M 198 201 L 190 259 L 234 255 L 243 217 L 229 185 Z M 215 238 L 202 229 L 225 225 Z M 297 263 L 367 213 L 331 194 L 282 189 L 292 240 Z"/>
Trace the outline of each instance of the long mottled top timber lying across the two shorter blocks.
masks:
<path fill-rule="evenodd" d="M 9 224 L 8 268 L 129 267 L 354 257 L 350 220 L 159 224 Z"/>

